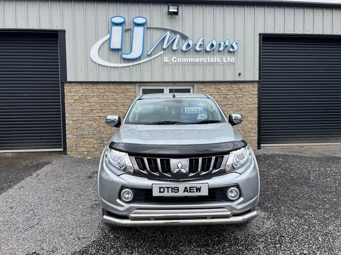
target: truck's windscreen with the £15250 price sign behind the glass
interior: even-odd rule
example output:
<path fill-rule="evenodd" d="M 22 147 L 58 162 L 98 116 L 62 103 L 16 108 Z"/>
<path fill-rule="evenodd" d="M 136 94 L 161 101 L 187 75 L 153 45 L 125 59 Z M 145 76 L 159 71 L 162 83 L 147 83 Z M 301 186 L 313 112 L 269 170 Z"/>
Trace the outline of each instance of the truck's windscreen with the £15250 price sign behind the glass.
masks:
<path fill-rule="evenodd" d="M 221 112 L 209 98 L 155 98 L 136 101 L 125 123 L 202 120 L 222 120 Z"/>

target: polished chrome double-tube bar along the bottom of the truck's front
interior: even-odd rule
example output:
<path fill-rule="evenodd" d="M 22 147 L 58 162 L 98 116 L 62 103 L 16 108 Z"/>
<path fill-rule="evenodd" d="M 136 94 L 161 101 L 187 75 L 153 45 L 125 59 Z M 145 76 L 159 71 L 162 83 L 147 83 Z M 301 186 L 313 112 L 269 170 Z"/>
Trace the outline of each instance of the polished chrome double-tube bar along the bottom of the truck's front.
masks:
<path fill-rule="evenodd" d="M 210 216 L 209 216 L 210 215 Z M 219 216 L 223 215 L 217 212 L 211 213 L 193 213 L 176 215 L 177 219 L 167 219 L 168 214 L 130 214 L 129 219 L 116 218 L 106 213 L 103 215 L 104 222 L 114 226 L 160 226 L 160 225 L 208 225 L 208 224 L 238 224 L 243 223 L 257 217 L 257 211 L 247 212 L 239 216 Z M 213 218 L 212 218 L 213 217 Z M 184 219 L 181 219 L 184 218 Z M 193 219 L 191 219 L 193 218 Z"/>

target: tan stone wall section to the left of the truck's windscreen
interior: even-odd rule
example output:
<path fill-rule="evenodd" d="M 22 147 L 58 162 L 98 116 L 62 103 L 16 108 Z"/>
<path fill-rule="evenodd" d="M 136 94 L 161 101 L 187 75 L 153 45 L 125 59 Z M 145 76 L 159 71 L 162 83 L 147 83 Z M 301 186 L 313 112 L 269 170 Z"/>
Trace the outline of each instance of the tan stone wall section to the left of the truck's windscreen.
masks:
<path fill-rule="evenodd" d="M 123 120 L 135 98 L 135 83 L 65 83 L 67 153 L 100 156 L 117 130 L 104 123 L 105 116 L 119 114 Z"/>

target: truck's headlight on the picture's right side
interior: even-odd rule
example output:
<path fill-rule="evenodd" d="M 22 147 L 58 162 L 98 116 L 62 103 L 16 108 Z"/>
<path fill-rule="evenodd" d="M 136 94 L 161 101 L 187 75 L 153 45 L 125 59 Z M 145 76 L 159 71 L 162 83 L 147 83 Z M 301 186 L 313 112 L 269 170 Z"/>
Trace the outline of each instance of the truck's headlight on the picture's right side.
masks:
<path fill-rule="evenodd" d="M 237 172 L 242 174 L 252 161 L 251 148 L 249 146 L 230 152 L 225 171 L 226 173 Z"/>

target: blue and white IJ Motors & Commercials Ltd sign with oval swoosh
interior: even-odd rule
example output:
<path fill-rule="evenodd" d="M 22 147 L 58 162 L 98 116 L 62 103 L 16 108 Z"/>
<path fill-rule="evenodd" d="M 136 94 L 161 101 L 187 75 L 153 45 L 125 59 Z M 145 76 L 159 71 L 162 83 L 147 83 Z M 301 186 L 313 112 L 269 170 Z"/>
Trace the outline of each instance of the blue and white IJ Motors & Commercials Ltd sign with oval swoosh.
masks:
<path fill-rule="evenodd" d="M 100 46 L 107 40 L 109 40 L 109 50 L 117 50 L 117 51 L 122 50 L 122 41 L 123 41 L 123 32 L 124 32 L 123 23 L 125 22 L 125 18 L 122 16 L 114 16 L 110 18 L 110 21 L 114 24 L 113 26 L 111 26 L 110 34 L 104 36 L 97 43 L 95 43 L 95 45 L 91 48 L 91 51 L 90 51 L 91 59 L 94 62 L 103 66 L 124 67 L 124 66 L 132 66 L 132 65 L 146 62 L 164 53 L 164 51 L 161 51 L 153 56 L 150 56 L 159 44 L 162 45 L 162 49 L 166 49 L 172 45 L 171 48 L 173 51 L 180 50 L 183 52 L 186 52 L 192 48 L 194 48 L 196 52 L 201 52 L 201 51 L 211 52 L 214 50 L 223 51 L 225 48 L 227 49 L 227 51 L 233 52 L 238 49 L 238 46 L 237 46 L 237 44 L 239 43 L 238 40 L 235 40 L 230 44 L 229 39 L 225 39 L 219 42 L 216 39 L 212 39 L 205 45 L 204 36 L 197 39 L 195 43 L 192 39 L 187 37 L 187 40 L 184 41 L 184 43 L 181 45 L 179 44 L 179 40 L 180 38 L 183 38 L 181 37 L 181 35 L 183 35 L 182 33 L 180 32 L 176 33 L 177 31 L 168 30 L 166 28 L 149 28 L 149 29 L 168 30 L 156 41 L 156 43 L 151 47 L 151 49 L 148 50 L 147 56 L 150 56 L 150 57 L 147 57 L 143 60 L 132 62 L 132 63 L 124 63 L 124 64 L 110 63 L 110 62 L 102 60 L 102 58 L 98 55 L 98 50 Z M 123 53 L 123 52 L 121 53 L 121 58 L 126 59 L 126 60 L 135 60 L 137 58 L 140 58 L 144 50 L 144 39 L 145 39 L 145 32 L 146 32 L 146 28 L 144 24 L 147 23 L 147 19 L 145 17 L 140 17 L 140 16 L 134 17 L 133 23 L 136 24 L 137 26 L 133 26 L 131 50 L 130 52 L 127 52 L 127 53 Z M 174 37 L 171 37 L 170 35 L 171 31 L 173 32 L 173 34 L 176 33 Z M 179 59 L 181 60 L 179 61 Z M 163 58 L 164 63 L 198 63 L 198 62 L 225 63 L 225 62 L 234 62 L 234 57 L 231 57 L 231 58 L 230 57 L 226 57 L 226 58 L 225 57 L 223 58 L 220 58 L 220 57 L 218 58 L 217 57 L 177 58 L 175 57 L 174 58 L 173 57 L 173 58 L 170 58 L 170 61 L 169 60 L 167 61 L 167 60 L 168 60 L 168 57 Z"/>

